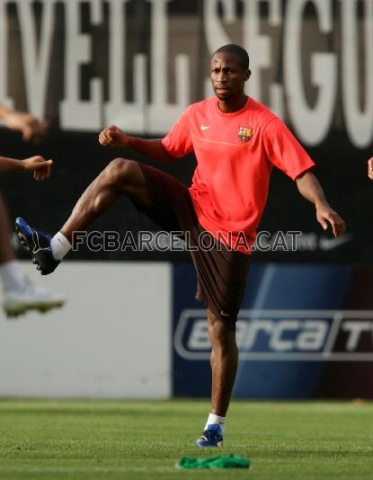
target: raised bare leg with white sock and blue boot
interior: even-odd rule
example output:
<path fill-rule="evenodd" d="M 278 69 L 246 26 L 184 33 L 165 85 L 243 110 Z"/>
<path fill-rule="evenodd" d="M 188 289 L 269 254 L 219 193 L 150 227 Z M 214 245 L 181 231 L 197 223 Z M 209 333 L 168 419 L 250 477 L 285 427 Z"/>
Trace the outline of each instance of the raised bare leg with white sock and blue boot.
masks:
<path fill-rule="evenodd" d="M 31 228 L 22 218 L 15 221 L 21 244 L 30 251 L 32 262 L 37 264 L 42 275 L 56 269 L 59 262 L 71 249 L 73 232 L 82 231 L 99 217 L 120 197 L 131 199 L 147 206 L 150 202 L 144 174 L 137 162 L 116 158 L 93 180 L 77 201 L 66 224 L 55 236 L 49 236 Z"/>

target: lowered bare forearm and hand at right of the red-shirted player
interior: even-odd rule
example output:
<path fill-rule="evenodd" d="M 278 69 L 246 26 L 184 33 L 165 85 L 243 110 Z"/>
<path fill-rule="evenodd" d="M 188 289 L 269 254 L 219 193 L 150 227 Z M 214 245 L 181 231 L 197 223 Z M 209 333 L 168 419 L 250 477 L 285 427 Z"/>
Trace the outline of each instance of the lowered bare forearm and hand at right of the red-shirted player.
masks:
<path fill-rule="evenodd" d="M 333 229 L 333 236 L 342 236 L 346 230 L 346 225 L 338 213 L 330 207 L 325 198 L 323 188 L 314 173 L 308 170 L 300 174 L 296 182 L 300 194 L 306 200 L 314 203 L 317 221 L 324 230 L 330 225 Z"/>

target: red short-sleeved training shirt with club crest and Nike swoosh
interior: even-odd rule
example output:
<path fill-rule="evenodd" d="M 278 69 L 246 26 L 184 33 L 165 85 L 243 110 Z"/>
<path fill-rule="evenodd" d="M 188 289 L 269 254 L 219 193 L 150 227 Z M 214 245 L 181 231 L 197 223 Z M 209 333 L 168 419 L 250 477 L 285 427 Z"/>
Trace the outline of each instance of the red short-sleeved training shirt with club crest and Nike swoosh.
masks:
<path fill-rule="evenodd" d="M 217 97 L 191 104 L 162 145 L 177 158 L 194 151 L 197 168 L 189 191 L 200 225 L 247 254 L 273 165 L 293 180 L 315 165 L 282 120 L 253 98 L 232 113 L 220 111 Z"/>

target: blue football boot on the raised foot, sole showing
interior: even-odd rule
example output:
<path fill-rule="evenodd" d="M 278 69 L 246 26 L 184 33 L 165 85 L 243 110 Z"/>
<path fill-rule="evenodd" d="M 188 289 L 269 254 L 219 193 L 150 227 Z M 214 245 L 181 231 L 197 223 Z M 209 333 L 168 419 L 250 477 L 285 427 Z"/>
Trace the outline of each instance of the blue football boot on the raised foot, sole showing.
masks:
<path fill-rule="evenodd" d="M 32 263 L 37 265 L 41 275 L 48 275 L 56 269 L 60 261 L 54 258 L 50 248 L 51 236 L 31 228 L 21 217 L 15 220 L 15 231 L 23 248 L 31 253 Z"/>

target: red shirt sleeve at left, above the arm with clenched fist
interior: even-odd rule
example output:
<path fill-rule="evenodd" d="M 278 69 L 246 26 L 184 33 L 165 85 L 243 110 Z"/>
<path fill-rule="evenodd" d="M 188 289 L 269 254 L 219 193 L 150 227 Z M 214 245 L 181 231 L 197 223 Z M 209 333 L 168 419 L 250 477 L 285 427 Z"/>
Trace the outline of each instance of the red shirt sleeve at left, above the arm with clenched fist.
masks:
<path fill-rule="evenodd" d="M 190 126 L 191 107 L 182 112 L 179 120 L 162 139 L 162 146 L 167 153 L 175 158 L 182 158 L 193 151 Z"/>

